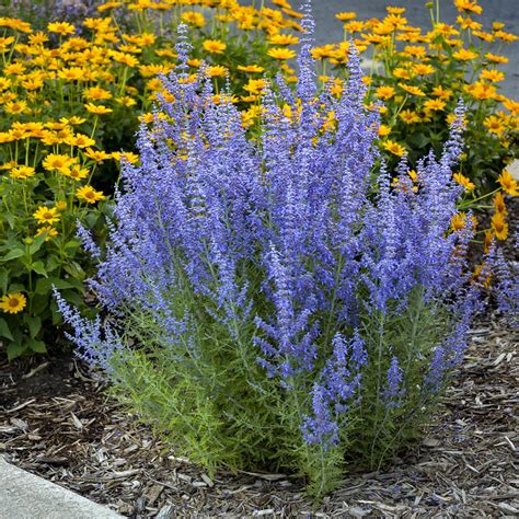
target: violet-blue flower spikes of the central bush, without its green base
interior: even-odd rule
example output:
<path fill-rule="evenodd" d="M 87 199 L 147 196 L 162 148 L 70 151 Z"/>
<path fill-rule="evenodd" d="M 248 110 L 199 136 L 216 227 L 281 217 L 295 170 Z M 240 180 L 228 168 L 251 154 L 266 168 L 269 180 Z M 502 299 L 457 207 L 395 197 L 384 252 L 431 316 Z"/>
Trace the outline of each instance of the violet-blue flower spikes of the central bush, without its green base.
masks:
<path fill-rule="evenodd" d="M 464 260 L 472 226 L 450 230 L 461 189 L 451 172 L 462 149 L 462 106 L 442 155 L 420 160 L 417 181 L 404 158 L 393 178 L 373 147 L 379 116 L 364 106 L 358 56 L 351 51 L 341 96 L 318 90 L 310 16 L 303 25 L 296 91 L 280 77 L 267 83 L 260 137 L 243 128 L 230 92 L 215 96 L 204 72 L 187 77 L 189 45 L 180 28 L 180 66 L 164 78 L 173 100 L 162 100 L 152 129 L 140 128 L 141 165 L 124 164 L 93 287 L 116 315 L 148 312 L 172 351 L 185 337 L 197 347 L 197 312 L 174 297 L 188 293 L 237 347 L 255 349 L 266 378 L 286 391 L 312 381 L 301 434 L 310 445 L 333 446 L 368 365 L 382 362 L 388 410 L 410 392 L 406 359 L 396 350 L 377 359 L 367 320 L 404 313 L 416 293 L 449 309 L 452 333 L 428 353 L 423 373 L 434 393 L 461 358 L 477 287 Z M 109 362 L 107 353 L 122 348 L 114 332 L 108 347 L 60 307 L 86 356 Z"/>

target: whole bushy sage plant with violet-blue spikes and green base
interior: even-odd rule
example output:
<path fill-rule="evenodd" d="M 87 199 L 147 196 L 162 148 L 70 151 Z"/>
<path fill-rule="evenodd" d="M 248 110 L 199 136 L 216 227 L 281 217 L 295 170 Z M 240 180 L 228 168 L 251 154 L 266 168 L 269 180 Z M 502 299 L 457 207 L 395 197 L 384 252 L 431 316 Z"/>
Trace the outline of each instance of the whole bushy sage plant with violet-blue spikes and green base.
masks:
<path fill-rule="evenodd" d="M 481 284 L 470 217 L 451 228 L 462 108 L 441 157 L 414 180 L 405 159 L 390 173 L 358 57 L 338 97 L 318 91 L 309 15 L 304 28 L 297 88 L 267 82 L 254 136 L 229 92 L 188 77 L 181 34 L 109 245 L 82 231 L 106 319 L 60 308 L 83 358 L 177 452 L 210 471 L 292 471 L 322 496 L 419 435 Z"/>

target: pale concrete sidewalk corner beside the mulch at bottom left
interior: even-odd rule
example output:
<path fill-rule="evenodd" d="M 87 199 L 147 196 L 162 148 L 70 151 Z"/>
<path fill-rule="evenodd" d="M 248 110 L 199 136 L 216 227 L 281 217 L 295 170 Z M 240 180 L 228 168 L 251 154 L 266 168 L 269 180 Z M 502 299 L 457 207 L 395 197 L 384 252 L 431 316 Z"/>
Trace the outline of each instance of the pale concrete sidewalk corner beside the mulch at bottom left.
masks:
<path fill-rule="evenodd" d="M 8 463 L 0 455 L 0 519 L 116 519 L 118 514 Z"/>

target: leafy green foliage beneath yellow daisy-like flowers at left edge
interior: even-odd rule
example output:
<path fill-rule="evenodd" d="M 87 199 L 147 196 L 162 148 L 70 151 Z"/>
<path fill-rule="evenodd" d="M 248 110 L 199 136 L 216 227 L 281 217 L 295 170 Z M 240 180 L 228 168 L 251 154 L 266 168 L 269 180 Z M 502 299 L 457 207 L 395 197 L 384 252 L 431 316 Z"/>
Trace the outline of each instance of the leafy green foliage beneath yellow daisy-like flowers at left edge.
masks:
<path fill-rule="evenodd" d="M 9 359 L 45 353 L 56 339 L 53 326 L 61 318 L 53 287 L 92 314 L 83 302 L 83 281 L 92 266 L 76 237 L 76 220 L 102 237 L 106 206 L 90 208 L 84 201 L 76 203 L 77 187 L 58 172 L 33 173 L 25 178 L 4 175 L 0 181 L 0 292 L 4 295 L 0 336 Z M 50 210 L 54 221 L 38 220 L 35 214 L 39 208 Z M 10 309 L 12 295 L 24 301 Z"/>

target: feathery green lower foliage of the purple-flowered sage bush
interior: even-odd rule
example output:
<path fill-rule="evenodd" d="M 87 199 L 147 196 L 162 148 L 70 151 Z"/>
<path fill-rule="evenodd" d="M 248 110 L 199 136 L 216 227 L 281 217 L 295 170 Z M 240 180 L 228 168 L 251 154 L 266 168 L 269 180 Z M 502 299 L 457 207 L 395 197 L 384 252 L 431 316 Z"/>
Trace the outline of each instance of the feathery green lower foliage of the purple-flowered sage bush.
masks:
<path fill-rule="evenodd" d="M 188 292 L 176 297 L 177 308 L 195 301 Z M 174 350 L 157 319 L 131 312 L 123 336 L 127 348 L 111 360 L 112 393 L 175 452 L 211 474 L 220 468 L 288 471 L 319 499 L 341 484 L 345 470 L 390 463 L 430 419 L 437 393 L 424 388 L 424 374 L 449 320 L 420 293 L 400 316 L 365 316 L 368 362 L 360 394 L 342 418 L 339 443 L 328 448 L 305 442 L 301 430 L 303 417 L 312 413 L 312 373 L 293 376 L 288 387 L 268 378 L 257 364 L 252 322 L 242 322 L 233 338 L 203 304 L 193 303 L 189 311 L 196 315 L 196 338 L 189 342 L 186 335 Z M 319 356 L 325 358 L 331 345 L 322 343 Z M 388 407 L 382 395 L 393 355 L 407 360 L 402 366 L 405 394 L 399 406 Z"/>

